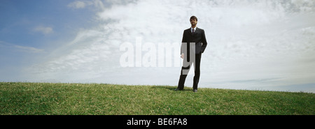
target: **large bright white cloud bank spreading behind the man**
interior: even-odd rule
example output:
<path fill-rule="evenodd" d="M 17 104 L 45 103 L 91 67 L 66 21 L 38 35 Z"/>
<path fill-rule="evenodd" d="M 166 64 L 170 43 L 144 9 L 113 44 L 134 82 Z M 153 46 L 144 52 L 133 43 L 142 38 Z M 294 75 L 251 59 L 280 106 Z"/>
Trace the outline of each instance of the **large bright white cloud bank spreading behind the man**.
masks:
<path fill-rule="evenodd" d="M 176 85 L 179 67 L 121 68 L 120 44 L 135 45 L 136 37 L 155 45 L 180 44 L 189 17 L 196 15 L 209 42 L 202 55 L 200 87 L 263 89 L 315 83 L 314 2 L 140 0 L 113 2 L 110 8 L 96 3 L 102 8 L 99 25 L 79 31 L 34 65 L 33 79 Z M 188 75 L 186 85 L 192 80 Z"/>

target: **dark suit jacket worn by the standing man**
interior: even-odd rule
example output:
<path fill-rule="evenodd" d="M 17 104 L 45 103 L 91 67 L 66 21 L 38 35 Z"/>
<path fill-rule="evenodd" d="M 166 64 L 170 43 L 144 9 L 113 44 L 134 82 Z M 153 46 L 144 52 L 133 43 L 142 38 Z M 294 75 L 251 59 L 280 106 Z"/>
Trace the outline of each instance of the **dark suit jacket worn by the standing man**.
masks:
<path fill-rule="evenodd" d="M 195 48 L 190 48 L 190 43 L 195 43 Z M 187 53 L 183 50 L 183 45 L 187 45 Z M 195 32 L 192 33 L 189 29 L 186 29 L 183 32 L 183 40 L 181 41 L 181 54 L 190 55 L 190 52 L 193 51 L 195 54 L 203 53 L 207 47 L 206 36 L 204 35 L 204 30 L 196 28 Z"/>

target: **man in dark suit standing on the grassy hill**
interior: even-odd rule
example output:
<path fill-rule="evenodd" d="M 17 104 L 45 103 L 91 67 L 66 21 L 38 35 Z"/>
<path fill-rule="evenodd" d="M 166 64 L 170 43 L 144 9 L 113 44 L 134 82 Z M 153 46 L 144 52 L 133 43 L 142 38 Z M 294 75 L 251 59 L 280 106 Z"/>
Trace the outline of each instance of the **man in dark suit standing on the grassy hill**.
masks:
<path fill-rule="evenodd" d="M 175 91 L 183 90 L 185 79 L 194 63 L 195 77 L 193 80 L 193 91 L 197 92 L 198 82 L 200 79 L 201 56 L 207 47 L 204 30 L 197 28 L 197 22 L 197 17 L 190 17 L 191 27 L 183 32 L 183 40 L 181 42 L 181 58 L 183 59 L 183 67 L 181 68 L 181 76 L 179 77 L 179 86 L 175 89 Z"/>

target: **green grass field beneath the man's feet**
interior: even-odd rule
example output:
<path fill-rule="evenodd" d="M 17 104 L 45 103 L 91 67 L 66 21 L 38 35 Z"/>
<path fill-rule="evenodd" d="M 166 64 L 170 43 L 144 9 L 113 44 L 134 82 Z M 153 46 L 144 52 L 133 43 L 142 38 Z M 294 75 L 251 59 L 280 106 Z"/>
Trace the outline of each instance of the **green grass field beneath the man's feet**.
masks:
<path fill-rule="evenodd" d="M 0 82 L 0 114 L 309 114 L 314 93 Z"/>

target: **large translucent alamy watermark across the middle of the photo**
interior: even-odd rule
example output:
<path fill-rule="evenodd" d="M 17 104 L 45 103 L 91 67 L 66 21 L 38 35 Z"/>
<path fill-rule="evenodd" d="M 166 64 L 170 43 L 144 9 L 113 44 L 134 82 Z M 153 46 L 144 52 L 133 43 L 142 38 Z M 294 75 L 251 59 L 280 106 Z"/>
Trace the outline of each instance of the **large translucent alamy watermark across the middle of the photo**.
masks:
<path fill-rule="evenodd" d="M 190 60 L 183 59 L 181 50 L 187 54 L 187 43 L 142 43 L 137 37 L 135 45 L 125 42 L 120 45 L 120 66 L 122 67 L 183 67 L 191 66 L 195 61 L 195 43 L 190 43 Z M 187 56 L 187 55 L 185 55 Z"/>

